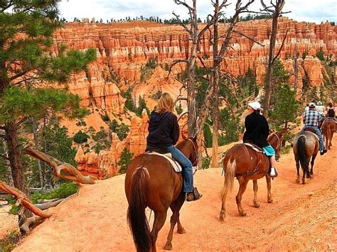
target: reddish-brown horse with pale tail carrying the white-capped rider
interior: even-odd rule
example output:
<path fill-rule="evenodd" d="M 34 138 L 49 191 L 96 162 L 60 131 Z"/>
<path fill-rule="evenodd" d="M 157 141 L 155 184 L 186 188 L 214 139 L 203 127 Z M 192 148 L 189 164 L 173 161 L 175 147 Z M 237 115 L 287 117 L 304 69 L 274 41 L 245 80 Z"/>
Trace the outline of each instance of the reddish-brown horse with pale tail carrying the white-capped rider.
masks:
<path fill-rule="evenodd" d="M 274 148 L 277 160 L 279 159 L 279 152 L 282 147 L 282 136 L 287 132 L 287 129 L 281 133 L 274 132 L 271 133 L 267 140 L 270 145 Z M 223 170 L 225 171 L 225 182 L 223 184 L 223 190 L 221 192 L 221 197 L 223 204 L 220 212 L 220 221 L 225 219 L 225 200 L 228 190 L 232 190 L 234 177 L 240 184 L 239 192 L 237 192 L 236 203 L 237 209 L 239 210 L 240 216 L 246 216 L 246 212 L 242 209 L 241 199 L 242 195 L 246 190 L 247 184 L 250 180 L 253 180 L 253 190 L 254 190 L 254 207 L 260 207 L 257 204 L 257 180 L 262 177 L 266 177 L 267 188 L 268 188 L 268 203 L 272 203 L 272 182 L 271 177 L 268 175 L 269 171 L 269 158 L 267 155 L 262 153 L 257 153 L 255 150 L 244 144 L 237 144 L 228 150 L 223 160 Z"/>

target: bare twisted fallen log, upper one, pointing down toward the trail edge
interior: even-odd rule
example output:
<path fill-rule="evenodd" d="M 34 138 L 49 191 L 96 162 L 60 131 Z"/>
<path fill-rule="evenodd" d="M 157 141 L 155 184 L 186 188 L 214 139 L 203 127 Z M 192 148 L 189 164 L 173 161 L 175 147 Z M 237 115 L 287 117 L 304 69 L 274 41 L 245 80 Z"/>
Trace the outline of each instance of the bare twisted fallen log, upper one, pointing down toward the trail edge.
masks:
<path fill-rule="evenodd" d="M 23 153 L 50 164 L 54 168 L 55 177 L 62 177 L 65 180 L 72 180 L 80 184 L 95 184 L 91 176 L 83 176 L 73 165 L 64 163 L 40 150 L 26 147 L 23 149 Z"/>

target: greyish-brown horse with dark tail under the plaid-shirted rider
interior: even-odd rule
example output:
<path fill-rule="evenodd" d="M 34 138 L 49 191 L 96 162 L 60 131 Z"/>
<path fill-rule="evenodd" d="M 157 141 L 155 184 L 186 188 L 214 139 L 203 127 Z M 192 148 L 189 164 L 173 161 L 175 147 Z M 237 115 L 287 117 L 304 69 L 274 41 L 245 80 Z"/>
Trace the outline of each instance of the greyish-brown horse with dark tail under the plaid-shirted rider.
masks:
<path fill-rule="evenodd" d="M 319 138 L 315 133 L 310 131 L 299 132 L 294 137 L 291 146 L 294 151 L 296 161 L 297 178 L 296 183 L 299 183 L 299 165 L 303 171 L 302 184 L 306 183 L 306 177 L 311 178 L 314 174 L 314 162 L 319 152 Z M 311 159 L 311 170 L 309 172 L 309 162 Z"/>

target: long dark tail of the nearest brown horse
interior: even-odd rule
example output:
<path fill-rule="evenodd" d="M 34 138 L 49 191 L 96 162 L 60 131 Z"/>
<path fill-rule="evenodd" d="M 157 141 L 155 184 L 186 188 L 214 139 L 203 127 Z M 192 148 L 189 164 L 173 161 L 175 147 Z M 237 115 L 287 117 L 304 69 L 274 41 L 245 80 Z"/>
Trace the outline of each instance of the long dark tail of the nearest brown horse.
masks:
<path fill-rule="evenodd" d="M 150 251 L 151 236 L 145 208 L 149 185 L 149 171 L 141 166 L 132 175 L 131 199 L 127 209 L 127 222 L 132 231 L 137 251 Z"/>

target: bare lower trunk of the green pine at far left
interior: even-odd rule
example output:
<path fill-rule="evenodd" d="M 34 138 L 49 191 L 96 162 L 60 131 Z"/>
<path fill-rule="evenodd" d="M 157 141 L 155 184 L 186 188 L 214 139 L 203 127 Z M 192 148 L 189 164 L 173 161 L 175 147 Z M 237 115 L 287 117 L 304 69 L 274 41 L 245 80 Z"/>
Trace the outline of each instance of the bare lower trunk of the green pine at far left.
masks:
<path fill-rule="evenodd" d="M 8 121 L 5 128 L 14 187 L 29 196 L 23 171 L 22 153 L 19 148 L 18 129 L 13 121 Z"/>

